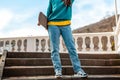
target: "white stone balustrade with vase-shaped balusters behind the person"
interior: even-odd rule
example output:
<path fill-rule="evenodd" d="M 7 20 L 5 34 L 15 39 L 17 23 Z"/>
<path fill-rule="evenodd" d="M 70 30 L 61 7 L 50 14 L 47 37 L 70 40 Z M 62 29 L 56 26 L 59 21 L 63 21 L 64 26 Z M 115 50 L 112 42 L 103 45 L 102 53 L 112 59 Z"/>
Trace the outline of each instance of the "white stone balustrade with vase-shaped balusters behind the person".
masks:
<path fill-rule="evenodd" d="M 73 34 L 78 53 L 114 53 L 115 34 L 105 33 L 79 33 Z M 48 36 L 0 38 L 0 48 L 11 52 L 50 52 Z M 60 52 L 66 53 L 67 49 L 60 38 Z"/>

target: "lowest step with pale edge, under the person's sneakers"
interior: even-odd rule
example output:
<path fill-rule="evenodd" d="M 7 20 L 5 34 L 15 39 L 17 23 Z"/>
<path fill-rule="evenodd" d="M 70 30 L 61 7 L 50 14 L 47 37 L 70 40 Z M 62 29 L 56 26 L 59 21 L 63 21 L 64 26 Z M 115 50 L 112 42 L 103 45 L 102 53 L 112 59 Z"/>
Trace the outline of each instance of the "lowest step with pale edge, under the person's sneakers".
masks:
<path fill-rule="evenodd" d="M 54 76 L 21 76 L 21 77 L 6 77 L 2 80 L 56 80 Z M 88 79 L 82 79 L 74 76 L 64 75 L 63 80 L 120 80 L 120 75 L 89 75 Z"/>

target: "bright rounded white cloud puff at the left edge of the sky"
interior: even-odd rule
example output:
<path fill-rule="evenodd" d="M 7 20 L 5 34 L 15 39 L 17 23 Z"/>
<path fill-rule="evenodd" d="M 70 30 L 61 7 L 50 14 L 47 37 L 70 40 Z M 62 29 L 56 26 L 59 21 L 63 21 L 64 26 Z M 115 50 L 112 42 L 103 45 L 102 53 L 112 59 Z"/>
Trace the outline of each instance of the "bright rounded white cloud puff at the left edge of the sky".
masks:
<path fill-rule="evenodd" d="M 0 9 L 0 30 L 9 24 L 13 13 L 8 9 Z"/>

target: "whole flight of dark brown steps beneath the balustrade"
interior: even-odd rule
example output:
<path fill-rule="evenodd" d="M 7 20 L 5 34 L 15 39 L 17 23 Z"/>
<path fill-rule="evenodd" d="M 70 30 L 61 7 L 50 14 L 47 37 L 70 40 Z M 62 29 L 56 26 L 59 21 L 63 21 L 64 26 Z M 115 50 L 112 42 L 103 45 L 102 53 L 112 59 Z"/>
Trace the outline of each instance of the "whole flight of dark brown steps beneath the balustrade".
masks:
<path fill-rule="evenodd" d="M 66 53 L 60 53 L 63 80 L 84 80 L 74 77 Z M 120 80 L 119 54 L 79 54 L 88 80 Z M 55 80 L 50 53 L 8 52 L 2 80 Z"/>

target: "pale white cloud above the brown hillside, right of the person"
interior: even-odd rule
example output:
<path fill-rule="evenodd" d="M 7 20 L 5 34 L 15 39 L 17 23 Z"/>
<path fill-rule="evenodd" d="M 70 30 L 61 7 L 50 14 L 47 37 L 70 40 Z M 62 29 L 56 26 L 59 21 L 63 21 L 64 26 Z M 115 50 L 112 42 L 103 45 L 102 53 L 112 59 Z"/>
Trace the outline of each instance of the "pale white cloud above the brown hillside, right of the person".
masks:
<path fill-rule="evenodd" d="M 84 9 L 86 5 L 90 5 L 91 8 L 88 7 L 88 9 Z M 104 0 L 76 0 L 73 5 L 73 11 L 76 12 L 73 14 L 72 28 L 76 29 L 113 14 L 114 3 L 108 6 L 108 3 L 105 3 Z"/>

